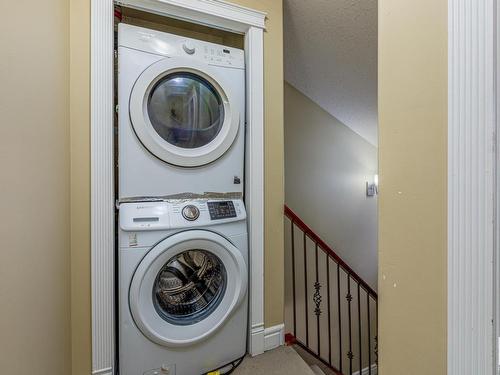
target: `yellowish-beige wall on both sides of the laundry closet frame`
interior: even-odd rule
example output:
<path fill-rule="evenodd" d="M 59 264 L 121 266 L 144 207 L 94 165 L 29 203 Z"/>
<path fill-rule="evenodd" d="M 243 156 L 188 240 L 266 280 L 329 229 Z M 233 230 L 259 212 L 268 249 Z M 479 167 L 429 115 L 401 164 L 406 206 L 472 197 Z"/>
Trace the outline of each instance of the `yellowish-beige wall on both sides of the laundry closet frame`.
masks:
<path fill-rule="evenodd" d="M 268 13 L 265 33 L 265 324 L 283 322 L 283 20 L 281 0 L 238 0 Z M 73 375 L 90 348 L 90 0 L 71 0 L 71 312 Z"/>

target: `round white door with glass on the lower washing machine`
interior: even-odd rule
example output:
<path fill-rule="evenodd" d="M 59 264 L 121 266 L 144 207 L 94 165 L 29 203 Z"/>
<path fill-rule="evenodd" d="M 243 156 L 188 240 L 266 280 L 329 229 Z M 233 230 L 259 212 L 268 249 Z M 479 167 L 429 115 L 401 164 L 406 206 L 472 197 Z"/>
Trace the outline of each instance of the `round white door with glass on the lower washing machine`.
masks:
<path fill-rule="evenodd" d="M 159 242 L 142 259 L 130 285 L 130 311 L 150 340 L 185 346 L 217 331 L 246 290 L 240 251 L 218 234 L 189 230 Z"/>

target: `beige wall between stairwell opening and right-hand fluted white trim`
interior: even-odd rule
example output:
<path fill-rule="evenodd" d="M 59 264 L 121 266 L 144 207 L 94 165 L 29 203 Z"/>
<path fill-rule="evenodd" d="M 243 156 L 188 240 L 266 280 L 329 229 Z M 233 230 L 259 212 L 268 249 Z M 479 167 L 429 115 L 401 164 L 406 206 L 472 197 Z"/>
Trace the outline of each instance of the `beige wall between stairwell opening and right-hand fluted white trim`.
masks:
<path fill-rule="evenodd" d="M 446 374 L 447 1 L 379 2 L 380 373 Z"/>

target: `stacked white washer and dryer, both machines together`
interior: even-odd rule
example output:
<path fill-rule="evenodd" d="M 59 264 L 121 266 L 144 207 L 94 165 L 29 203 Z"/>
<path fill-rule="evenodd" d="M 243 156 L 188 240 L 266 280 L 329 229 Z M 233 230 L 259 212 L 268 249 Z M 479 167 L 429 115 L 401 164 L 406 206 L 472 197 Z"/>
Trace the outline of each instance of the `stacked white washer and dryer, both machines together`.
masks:
<path fill-rule="evenodd" d="M 245 355 L 242 50 L 118 27 L 121 375 Z"/>

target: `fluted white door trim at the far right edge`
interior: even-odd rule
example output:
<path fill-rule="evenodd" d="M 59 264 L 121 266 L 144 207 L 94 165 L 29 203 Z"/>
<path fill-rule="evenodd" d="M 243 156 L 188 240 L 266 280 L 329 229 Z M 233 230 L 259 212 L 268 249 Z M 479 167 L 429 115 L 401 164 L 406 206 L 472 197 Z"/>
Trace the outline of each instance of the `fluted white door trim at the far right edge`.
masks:
<path fill-rule="evenodd" d="M 497 1 L 448 0 L 448 374 L 495 373 Z"/>

